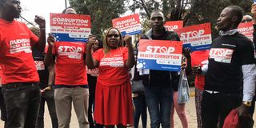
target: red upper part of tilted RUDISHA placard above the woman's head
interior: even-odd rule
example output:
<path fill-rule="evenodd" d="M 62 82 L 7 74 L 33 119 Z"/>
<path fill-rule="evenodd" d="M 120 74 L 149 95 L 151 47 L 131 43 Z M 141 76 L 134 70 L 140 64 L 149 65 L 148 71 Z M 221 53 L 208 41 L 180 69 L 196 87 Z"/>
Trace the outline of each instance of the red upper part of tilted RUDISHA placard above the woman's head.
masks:
<path fill-rule="evenodd" d="M 122 18 L 115 18 L 112 20 L 112 24 L 118 29 L 140 24 L 139 15 L 132 14 Z"/>

